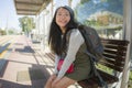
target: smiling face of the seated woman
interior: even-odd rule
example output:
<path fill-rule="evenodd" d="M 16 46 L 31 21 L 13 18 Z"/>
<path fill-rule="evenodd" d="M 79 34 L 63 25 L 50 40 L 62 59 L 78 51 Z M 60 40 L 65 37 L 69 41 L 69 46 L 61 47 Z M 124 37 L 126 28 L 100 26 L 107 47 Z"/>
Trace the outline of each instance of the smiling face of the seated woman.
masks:
<path fill-rule="evenodd" d="M 65 29 L 66 24 L 70 21 L 70 14 L 69 11 L 59 8 L 56 13 L 56 23 L 61 29 Z"/>

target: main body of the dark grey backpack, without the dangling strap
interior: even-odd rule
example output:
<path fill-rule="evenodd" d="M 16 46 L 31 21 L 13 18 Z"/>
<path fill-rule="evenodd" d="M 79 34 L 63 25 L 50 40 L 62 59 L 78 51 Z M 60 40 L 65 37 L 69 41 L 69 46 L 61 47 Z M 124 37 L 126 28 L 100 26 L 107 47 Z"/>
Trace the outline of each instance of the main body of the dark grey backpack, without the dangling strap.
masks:
<path fill-rule="evenodd" d="M 86 53 L 92 57 L 94 62 L 98 62 L 102 58 L 103 46 L 97 31 L 86 25 L 79 25 L 78 29 L 87 45 Z"/>

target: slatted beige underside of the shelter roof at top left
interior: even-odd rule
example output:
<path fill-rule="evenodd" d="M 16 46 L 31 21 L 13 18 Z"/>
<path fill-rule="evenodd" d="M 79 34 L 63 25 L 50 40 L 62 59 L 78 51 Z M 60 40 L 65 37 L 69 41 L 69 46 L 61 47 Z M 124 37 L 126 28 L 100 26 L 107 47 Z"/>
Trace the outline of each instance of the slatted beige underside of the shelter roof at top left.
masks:
<path fill-rule="evenodd" d="M 14 0 L 14 7 L 18 14 L 36 15 L 51 0 Z"/>

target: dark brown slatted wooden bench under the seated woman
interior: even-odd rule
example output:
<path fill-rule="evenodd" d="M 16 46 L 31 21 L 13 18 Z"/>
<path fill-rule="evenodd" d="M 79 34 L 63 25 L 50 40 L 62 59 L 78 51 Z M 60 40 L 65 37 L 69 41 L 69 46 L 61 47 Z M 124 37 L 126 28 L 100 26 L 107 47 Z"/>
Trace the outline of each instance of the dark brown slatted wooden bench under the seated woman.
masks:
<path fill-rule="evenodd" d="M 110 68 L 113 72 L 122 73 L 124 68 L 129 42 L 123 40 L 101 40 L 101 42 L 105 46 L 105 52 L 103 58 L 99 62 L 99 65 Z M 116 76 L 116 74 L 107 73 L 99 67 L 97 68 L 98 73 L 107 84 L 113 84 L 119 81 L 119 77 Z M 98 88 L 98 82 L 99 81 L 97 77 L 91 77 L 89 79 L 78 81 L 78 85 L 82 88 Z"/>

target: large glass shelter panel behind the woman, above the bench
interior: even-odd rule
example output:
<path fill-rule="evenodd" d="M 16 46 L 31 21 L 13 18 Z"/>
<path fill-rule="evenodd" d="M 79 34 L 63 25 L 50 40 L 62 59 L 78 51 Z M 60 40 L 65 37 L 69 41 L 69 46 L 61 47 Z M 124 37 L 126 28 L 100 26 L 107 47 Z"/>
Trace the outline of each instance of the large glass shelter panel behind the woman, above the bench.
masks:
<path fill-rule="evenodd" d="M 101 37 L 122 38 L 123 0 L 73 0 L 73 4 L 80 23 L 95 28 Z"/>

